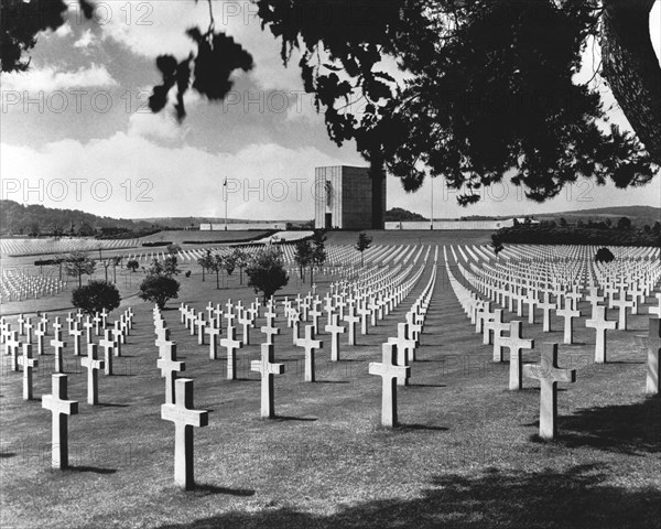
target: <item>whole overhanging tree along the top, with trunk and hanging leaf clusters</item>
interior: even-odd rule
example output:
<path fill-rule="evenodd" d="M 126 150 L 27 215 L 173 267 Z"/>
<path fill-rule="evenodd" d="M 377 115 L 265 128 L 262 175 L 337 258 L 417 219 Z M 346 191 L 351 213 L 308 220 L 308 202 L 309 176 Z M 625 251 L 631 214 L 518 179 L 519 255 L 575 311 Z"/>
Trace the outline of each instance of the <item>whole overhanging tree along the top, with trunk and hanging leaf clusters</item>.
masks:
<path fill-rule="evenodd" d="M 407 191 L 442 176 L 468 205 L 479 199 L 476 190 L 509 179 L 542 202 L 582 176 L 627 187 L 658 171 L 659 112 L 644 111 L 660 105 L 661 68 L 646 19 L 652 0 L 332 0 L 323 9 L 310 0 L 252 2 L 283 62 L 300 51 L 304 88 L 329 138 L 355 142 L 375 190 L 386 171 Z M 173 90 L 181 120 L 187 90 L 221 100 L 231 74 L 252 68 L 249 52 L 216 31 L 208 4 L 208 28 L 186 31 L 189 55 L 156 58 L 162 84 L 149 101 L 153 111 Z M 11 72 L 28 67 L 36 33 L 61 25 L 66 4 L 8 0 L 2 10 L 2 69 Z M 597 39 L 638 138 L 608 122 L 597 86 L 575 82 L 585 46 Z"/>

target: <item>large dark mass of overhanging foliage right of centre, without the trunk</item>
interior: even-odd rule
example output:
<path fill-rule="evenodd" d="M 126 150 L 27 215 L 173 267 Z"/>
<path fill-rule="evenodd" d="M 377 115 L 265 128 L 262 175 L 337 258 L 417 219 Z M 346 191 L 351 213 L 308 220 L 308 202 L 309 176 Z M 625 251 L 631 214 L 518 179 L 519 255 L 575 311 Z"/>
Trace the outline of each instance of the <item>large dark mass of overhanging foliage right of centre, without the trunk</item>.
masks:
<path fill-rule="evenodd" d="M 301 48 L 330 138 L 355 140 L 407 191 L 444 176 L 467 205 L 507 174 L 542 202 L 579 176 L 627 187 L 654 174 L 642 144 L 606 122 L 598 91 L 573 80 L 599 1 L 393 1 L 347 21 L 349 3 L 376 8 L 336 1 L 322 24 L 311 2 L 258 1 L 283 60 Z M 403 87 L 379 69 L 382 55 L 405 68 Z M 356 94 L 360 112 L 347 105 Z"/>

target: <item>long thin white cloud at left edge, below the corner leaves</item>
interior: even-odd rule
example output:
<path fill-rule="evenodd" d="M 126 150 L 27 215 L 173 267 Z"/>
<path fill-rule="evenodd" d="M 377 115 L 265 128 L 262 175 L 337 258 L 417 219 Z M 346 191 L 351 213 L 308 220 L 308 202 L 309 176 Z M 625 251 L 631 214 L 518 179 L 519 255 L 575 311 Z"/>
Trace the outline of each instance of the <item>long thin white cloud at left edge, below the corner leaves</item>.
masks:
<path fill-rule="evenodd" d="M 2 74 L 1 79 L 4 90 L 30 93 L 117 86 L 117 82 L 106 66 L 96 64 L 88 68 L 78 68 L 76 72 L 57 71 L 53 66 L 44 66 L 24 73 Z"/>

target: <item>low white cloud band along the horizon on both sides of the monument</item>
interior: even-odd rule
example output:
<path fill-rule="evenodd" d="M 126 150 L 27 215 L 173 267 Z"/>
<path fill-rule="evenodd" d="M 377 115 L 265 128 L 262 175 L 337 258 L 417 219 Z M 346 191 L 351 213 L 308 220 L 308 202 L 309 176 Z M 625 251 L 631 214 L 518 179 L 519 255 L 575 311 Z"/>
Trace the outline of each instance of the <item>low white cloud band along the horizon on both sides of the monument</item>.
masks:
<path fill-rule="evenodd" d="M 310 219 L 314 216 L 314 168 L 347 164 L 346 159 L 312 147 L 288 149 L 264 143 L 250 144 L 236 153 L 210 153 L 185 143 L 160 144 L 151 137 L 177 138 L 166 118 L 154 119 L 137 115 L 131 119 L 129 133 L 117 132 L 108 139 L 88 142 L 62 140 L 43 149 L 2 143 L 2 198 L 112 217 L 223 217 L 221 182 L 227 177 L 229 216 Z M 163 131 L 159 133 L 158 127 Z M 658 206 L 661 181 L 654 179 L 646 187 L 626 191 L 616 190 L 613 184 L 596 187 L 592 181 L 585 181 L 543 205 L 527 201 L 511 184 L 485 191 L 483 201 L 468 208 L 456 204 L 457 194 L 435 179 L 436 218 L 540 214 L 627 204 Z M 389 208 L 403 207 L 429 216 L 431 197 L 429 182 L 419 192 L 407 194 L 399 180 L 388 179 Z"/>

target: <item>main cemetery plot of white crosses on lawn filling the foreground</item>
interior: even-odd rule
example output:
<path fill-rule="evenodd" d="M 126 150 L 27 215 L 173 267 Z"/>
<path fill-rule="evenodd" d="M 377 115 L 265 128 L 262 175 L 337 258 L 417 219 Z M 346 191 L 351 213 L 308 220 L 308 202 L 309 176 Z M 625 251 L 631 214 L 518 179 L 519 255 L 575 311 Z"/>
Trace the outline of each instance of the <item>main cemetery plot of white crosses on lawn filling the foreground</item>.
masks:
<path fill-rule="evenodd" d="M 338 262 L 350 256 L 333 249 Z M 4 317 L 2 510 L 32 527 L 104 527 L 119 508 L 144 527 L 289 528 L 292 517 L 306 527 L 452 527 L 470 526 L 477 494 L 488 503 L 484 527 L 572 527 L 576 512 L 589 527 L 604 508 L 620 527 L 649 527 L 661 472 L 658 399 L 646 398 L 654 371 L 658 388 L 649 321 L 658 255 L 631 248 L 603 267 L 576 247 L 557 261 L 544 248 L 508 248 L 506 263 L 474 245 L 375 251 L 365 267 L 328 267 L 314 285 L 288 285 L 266 303 L 247 288 L 191 281 L 165 310 L 130 300 L 88 317 Z M 622 290 L 637 311 L 625 307 L 627 330 L 606 331 L 609 353 L 597 365 L 585 323 L 598 320 L 593 302 L 607 307 Z M 550 331 L 544 300 L 554 305 Z M 571 343 L 557 309 L 579 312 Z M 606 320 L 618 323 L 619 310 Z M 32 401 L 23 400 L 29 375 Z M 34 406 L 42 395 L 47 409 Z M 586 471 L 605 456 L 598 476 Z M 50 471 L 53 462 L 71 471 Z M 26 509 L 35 484 L 42 507 Z M 549 490 L 566 508 L 539 508 Z"/>

